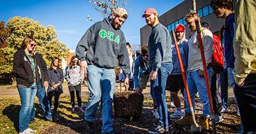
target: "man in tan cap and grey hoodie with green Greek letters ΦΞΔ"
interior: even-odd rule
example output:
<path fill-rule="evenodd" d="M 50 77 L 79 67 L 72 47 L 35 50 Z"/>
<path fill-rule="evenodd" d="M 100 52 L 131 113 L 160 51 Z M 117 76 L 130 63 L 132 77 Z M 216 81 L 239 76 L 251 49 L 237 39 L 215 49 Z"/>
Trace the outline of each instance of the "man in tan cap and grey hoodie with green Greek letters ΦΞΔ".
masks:
<path fill-rule="evenodd" d="M 88 89 L 91 92 L 84 112 L 86 129 L 90 133 L 95 130 L 93 119 L 100 100 L 102 100 L 102 133 L 113 133 L 111 114 L 116 66 L 122 68 L 125 73 L 124 82 L 129 85 L 129 56 L 124 33 L 120 30 L 128 14 L 124 8 L 117 8 L 111 17 L 93 24 L 76 48 L 76 56 L 81 61 L 81 71 L 87 73 Z"/>

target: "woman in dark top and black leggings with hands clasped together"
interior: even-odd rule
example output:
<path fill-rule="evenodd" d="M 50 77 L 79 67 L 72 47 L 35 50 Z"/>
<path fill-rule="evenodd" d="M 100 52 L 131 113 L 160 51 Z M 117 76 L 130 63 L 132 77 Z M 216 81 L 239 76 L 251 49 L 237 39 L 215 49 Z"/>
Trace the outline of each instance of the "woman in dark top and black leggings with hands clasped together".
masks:
<path fill-rule="evenodd" d="M 47 89 L 47 96 L 52 107 L 52 96 L 54 96 L 54 109 L 52 110 L 52 117 L 57 118 L 57 108 L 59 105 L 60 94 L 63 93 L 63 71 L 60 68 L 60 59 L 58 57 L 52 58 L 51 66 L 47 70 L 49 76 L 49 87 Z"/>

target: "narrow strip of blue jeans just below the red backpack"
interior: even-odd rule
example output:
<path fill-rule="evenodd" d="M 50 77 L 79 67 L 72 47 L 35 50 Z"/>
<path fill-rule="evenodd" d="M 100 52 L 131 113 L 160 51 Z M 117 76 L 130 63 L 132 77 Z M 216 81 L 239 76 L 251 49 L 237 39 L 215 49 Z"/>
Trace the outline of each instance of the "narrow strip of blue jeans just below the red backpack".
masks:
<path fill-rule="evenodd" d="M 222 107 L 228 108 L 228 69 L 225 68 L 220 74 L 221 102 Z"/>

